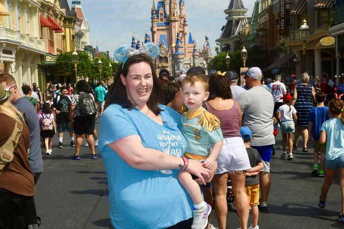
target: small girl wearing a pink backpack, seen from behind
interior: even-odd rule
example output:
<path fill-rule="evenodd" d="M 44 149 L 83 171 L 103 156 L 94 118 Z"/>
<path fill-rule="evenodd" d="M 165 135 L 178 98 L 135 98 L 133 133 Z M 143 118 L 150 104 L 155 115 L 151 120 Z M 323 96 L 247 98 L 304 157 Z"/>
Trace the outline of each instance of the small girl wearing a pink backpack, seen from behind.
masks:
<path fill-rule="evenodd" d="M 56 134 L 54 114 L 49 103 L 43 104 L 42 112 L 38 115 L 41 124 L 41 136 L 44 139 L 46 154 L 51 155 L 51 138 Z"/>

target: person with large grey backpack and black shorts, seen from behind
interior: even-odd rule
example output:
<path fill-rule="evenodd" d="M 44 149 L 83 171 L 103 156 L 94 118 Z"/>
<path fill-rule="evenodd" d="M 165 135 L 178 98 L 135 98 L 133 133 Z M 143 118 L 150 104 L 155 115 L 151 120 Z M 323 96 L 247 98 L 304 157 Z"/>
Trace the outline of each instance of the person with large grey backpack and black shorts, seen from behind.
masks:
<path fill-rule="evenodd" d="M 90 93 L 89 85 L 85 80 L 80 80 L 76 84 L 76 93 L 72 99 L 69 115 L 75 134 L 75 154 L 71 159 L 80 160 L 80 146 L 84 136 L 91 150 L 91 158 L 97 159 L 93 139 L 97 108 L 95 98 Z"/>

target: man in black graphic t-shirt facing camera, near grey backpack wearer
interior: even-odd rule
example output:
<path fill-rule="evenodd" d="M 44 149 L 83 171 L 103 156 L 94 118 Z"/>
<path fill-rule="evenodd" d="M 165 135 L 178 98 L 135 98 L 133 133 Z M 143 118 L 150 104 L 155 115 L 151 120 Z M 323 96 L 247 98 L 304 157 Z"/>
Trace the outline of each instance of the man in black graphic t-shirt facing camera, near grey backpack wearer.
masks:
<path fill-rule="evenodd" d="M 68 88 L 61 87 L 61 95 L 53 100 L 53 111 L 56 114 L 56 126 L 58 132 L 58 148 L 63 148 L 63 132 L 69 132 L 71 137 L 71 147 L 75 147 L 74 130 L 70 125 L 69 110 L 72 103 L 72 98 L 67 94 Z"/>

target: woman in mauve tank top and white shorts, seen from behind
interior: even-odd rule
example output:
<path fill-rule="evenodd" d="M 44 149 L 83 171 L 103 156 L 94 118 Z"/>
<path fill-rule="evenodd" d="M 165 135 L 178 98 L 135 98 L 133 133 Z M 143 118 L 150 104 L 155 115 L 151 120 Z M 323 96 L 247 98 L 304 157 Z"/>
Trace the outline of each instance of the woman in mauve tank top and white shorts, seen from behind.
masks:
<path fill-rule="evenodd" d="M 235 73 L 235 71 L 229 71 L 225 76 L 222 76 L 220 72 L 219 75 L 211 75 L 209 79 L 210 96 L 208 102 L 205 102 L 207 110 L 220 119 L 223 135 L 223 146 L 217 159 L 218 169 L 212 180 L 216 218 L 220 229 L 226 228 L 228 176 L 232 183 L 241 228 L 247 228 L 249 214 L 245 178 L 246 170 L 251 166 L 243 138 L 240 135 L 241 109 L 237 101 L 233 99 L 230 90 L 230 79 L 238 77 Z"/>

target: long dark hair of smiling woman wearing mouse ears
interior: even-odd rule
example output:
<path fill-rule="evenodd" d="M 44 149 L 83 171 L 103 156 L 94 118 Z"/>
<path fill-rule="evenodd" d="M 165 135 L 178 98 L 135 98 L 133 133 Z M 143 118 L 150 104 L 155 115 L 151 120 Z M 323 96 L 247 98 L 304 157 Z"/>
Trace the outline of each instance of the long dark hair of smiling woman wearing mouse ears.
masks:
<path fill-rule="evenodd" d="M 129 72 L 129 67 L 137 63 L 147 63 L 152 70 L 153 75 L 153 89 L 147 101 L 148 108 L 155 114 L 159 115 L 162 110 L 160 110 L 158 103 L 161 100 L 161 95 L 163 93 L 162 87 L 160 86 L 160 80 L 156 76 L 155 69 L 153 66 L 152 59 L 146 54 L 134 55 L 128 58 L 124 64 L 121 64 L 117 71 L 117 76 L 114 79 L 114 83 L 111 85 L 110 93 L 105 101 L 105 109 L 111 104 L 119 104 L 123 108 L 131 110 L 135 104 L 133 104 L 128 98 L 126 93 L 126 88 L 122 83 L 121 74 L 124 77 L 127 76 Z M 122 69 L 123 66 L 123 69 Z"/>

